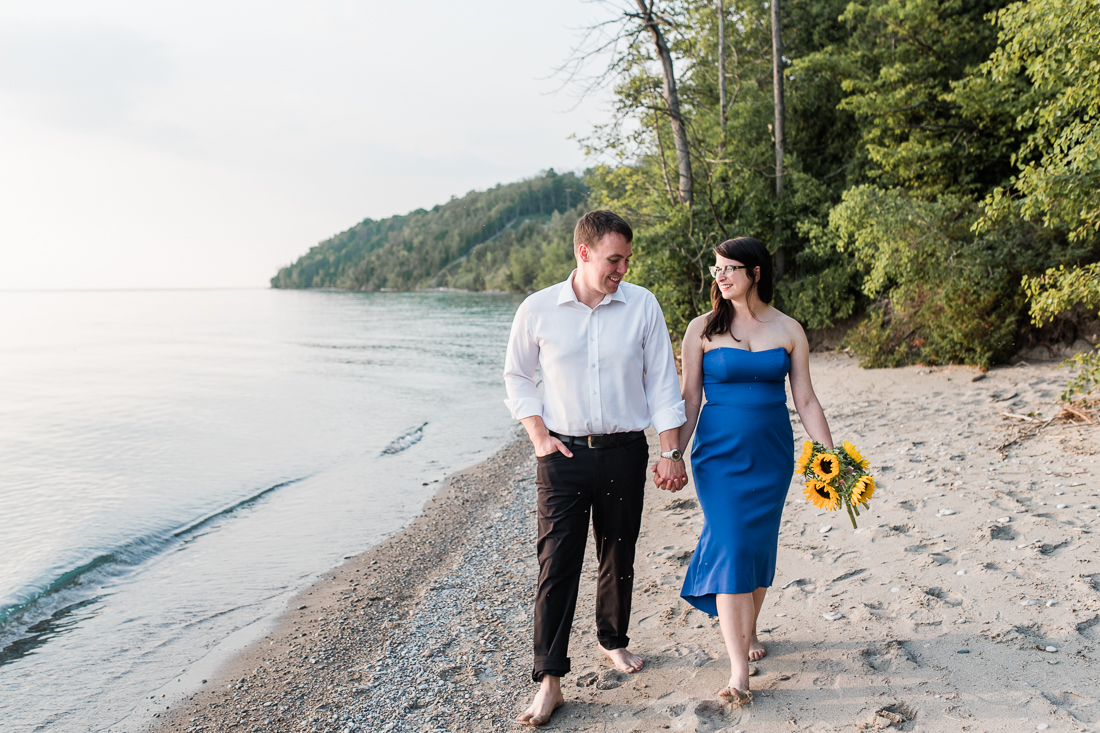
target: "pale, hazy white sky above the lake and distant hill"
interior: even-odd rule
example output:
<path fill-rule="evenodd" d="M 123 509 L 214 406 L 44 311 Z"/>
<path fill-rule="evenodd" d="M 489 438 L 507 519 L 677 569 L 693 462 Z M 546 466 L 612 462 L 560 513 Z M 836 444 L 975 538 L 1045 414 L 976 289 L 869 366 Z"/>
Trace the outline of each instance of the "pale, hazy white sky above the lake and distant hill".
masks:
<path fill-rule="evenodd" d="M 583 0 L 0 0 L 0 289 L 265 286 L 366 217 L 580 171 Z"/>

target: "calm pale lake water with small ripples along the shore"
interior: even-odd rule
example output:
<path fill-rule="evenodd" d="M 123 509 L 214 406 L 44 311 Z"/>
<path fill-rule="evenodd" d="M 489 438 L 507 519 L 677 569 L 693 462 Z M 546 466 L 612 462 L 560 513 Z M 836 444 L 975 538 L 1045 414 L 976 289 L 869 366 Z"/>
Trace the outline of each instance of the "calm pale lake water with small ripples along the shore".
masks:
<path fill-rule="evenodd" d="M 0 293 L 0 730 L 139 727 L 504 445 L 519 300 Z"/>

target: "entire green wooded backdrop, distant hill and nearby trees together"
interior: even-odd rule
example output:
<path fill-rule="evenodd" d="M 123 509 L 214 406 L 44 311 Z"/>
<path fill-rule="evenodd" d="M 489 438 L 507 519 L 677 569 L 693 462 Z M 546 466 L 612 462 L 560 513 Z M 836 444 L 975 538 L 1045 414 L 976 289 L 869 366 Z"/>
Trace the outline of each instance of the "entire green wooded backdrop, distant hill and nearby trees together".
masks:
<path fill-rule="evenodd" d="M 612 95 L 581 138 L 602 162 L 583 184 L 547 174 L 365 221 L 273 284 L 547 284 L 570 266 L 568 185 L 634 225 L 628 278 L 674 337 L 710 307 L 712 248 L 738 236 L 773 252 L 780 308 L 855 322 L 864 365 L 985 366 L 1100 306 L 1100 0 L 600 8 L 563 66 Z M 1094 343 L 1075 322 L 1068 340 Z M 1082 364 L 1100 382 L 1100 354 Z"/>

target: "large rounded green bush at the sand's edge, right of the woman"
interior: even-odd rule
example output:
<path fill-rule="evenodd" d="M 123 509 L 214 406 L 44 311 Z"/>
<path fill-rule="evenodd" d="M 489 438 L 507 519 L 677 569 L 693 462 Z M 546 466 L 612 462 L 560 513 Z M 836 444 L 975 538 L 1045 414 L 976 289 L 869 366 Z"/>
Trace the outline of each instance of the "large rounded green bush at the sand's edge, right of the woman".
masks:
<path fill-rule="evenodd" d="M 1025 232 L 977 237 L 977 216 L 957 197 L 930 203 L 870 185 L 845 194 L 829 227 L 862 272 L 864 293 L 879 300 L 849 338 L 862 363 L 988 366 L 1008 355 L 1021 309 L 1014 273 L 1028 264 L 1015 256 Z"/>

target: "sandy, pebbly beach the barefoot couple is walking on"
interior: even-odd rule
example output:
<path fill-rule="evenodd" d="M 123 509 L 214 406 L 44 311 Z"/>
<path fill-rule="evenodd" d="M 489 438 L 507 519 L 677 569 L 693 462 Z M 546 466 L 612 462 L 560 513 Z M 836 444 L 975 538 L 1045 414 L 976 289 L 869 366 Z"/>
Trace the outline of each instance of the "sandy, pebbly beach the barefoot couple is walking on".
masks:
<path fill-rule="evenodd" d="M 566 703 L 544 727 L 1100 730 L 1100 428 L 1049 419 L 1068 373 L 861 370 L 835 353 L 811 369 L 834 436 L 864 449 L 881 488 L 855 530 L 792 483 L 754 704 L 719 704 L 717 621 L 679 598 L 703 522 L 694 488 L 650 486 L 631 623 L 646 667 L 618 672 L 596 648 L 590 557 Z M 520 729 L 535 691 L 534 479 L 517 434 L 299 594 L 199 691 L 147 701 L 157 730 Z"/>

